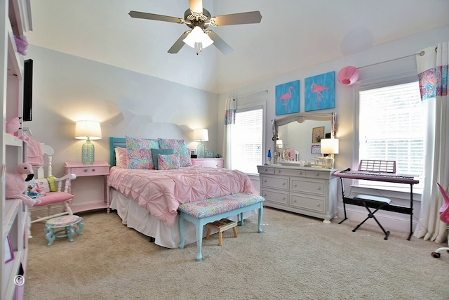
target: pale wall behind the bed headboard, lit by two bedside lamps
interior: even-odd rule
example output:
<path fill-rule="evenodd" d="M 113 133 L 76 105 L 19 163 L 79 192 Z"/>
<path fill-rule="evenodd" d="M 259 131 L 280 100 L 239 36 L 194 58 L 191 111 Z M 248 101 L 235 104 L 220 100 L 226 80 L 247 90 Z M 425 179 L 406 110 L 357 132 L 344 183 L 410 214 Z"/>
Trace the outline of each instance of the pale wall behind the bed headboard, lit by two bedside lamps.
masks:
<path fill-rule="evenodd" d="M 79 119 L 101 122 L 102 139 L 92 142 L 96 160 L 109 161 L 109 136 L 185 138 L 187 147 L 196 148 L 196 128 L 209 130 L 206 150 L 221 152 L 216 94 L 39 46 L 30 45 L 27 53 L 34 60 L 33 120 L 23 126 L 55 149 L 55 176 L 64 174 L 64 162 L 81 161 L 84 141 L 74 138 Z M 100 197 L 100 176 L 89 184 L 80 179 L 73 182 L 74 202 Z"/>

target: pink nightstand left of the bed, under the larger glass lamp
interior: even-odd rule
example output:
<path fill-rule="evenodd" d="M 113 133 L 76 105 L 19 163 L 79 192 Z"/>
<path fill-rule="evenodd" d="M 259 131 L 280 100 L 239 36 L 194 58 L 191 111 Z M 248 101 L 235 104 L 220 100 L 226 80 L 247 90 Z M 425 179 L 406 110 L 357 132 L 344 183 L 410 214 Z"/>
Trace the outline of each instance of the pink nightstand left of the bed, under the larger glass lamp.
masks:
<path fill-rule="evenodd" d="M 72 190 L 79 188 L 79 193 L 74 193 L 72 200 L 72 211 L 89 211 L 92 209 L 107 209 L 109 213 L 109 197 L 107 197 L 107 176 L 109 175 L 109 164 L 107 162 L 94 162 L 92 165 L 84 165 L 81 162 L 65 162 L 65 174 L 75 174 L 76 179 L 72 181 Z M 98 191 L 98 180 L 92 176 L 101 176 L 101 197 L 95 197 Z M 81 185 L 83 185 L 81 187 Z M 98 199 L 99 198 L 99 199 Z"/>

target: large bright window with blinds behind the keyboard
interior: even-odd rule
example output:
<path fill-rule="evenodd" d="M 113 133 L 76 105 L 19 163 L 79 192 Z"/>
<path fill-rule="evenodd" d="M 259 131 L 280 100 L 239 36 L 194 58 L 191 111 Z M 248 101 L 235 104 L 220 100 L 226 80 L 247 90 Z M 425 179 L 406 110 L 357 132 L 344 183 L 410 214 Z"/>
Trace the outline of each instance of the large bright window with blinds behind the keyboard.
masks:
<path fill-rule="evenodd" d="M 359 92 L 358 105 L 358 159 L 395 160 L 396 173 L 421 175 L 424 117 L 418 82 L 365 89 Z M 359 184 L 401 187 L 376 181 Z M 422 188 L 422 183 L 415 187 Z"/>

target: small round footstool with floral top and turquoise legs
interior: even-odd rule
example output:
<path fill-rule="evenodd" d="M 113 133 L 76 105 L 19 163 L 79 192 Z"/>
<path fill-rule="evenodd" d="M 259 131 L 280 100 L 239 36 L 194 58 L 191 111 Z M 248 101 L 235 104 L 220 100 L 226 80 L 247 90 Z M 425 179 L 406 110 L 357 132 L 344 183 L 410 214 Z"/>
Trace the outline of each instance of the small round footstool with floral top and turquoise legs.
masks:
<path fill-rule="evenodd" d="M 51 246 L 55 241 L 56 237 L 68 237 L 69 242 L 73 242 L 73 235 L 77 233 L 78 235 L 83 234 L 84 224 L 81 223 L 83 218 L 81 216 L 69 215 L 69 216 L 58 216 L 56 218 L 46 221 L 45 228 L 43 232 L 45 233 L 45 238 L 48 240 L 48 246 Z M 74 229 L 73 226 L 77 225 L 78 228 Z M 55 229 L 62 228 L 61 230 L 55 231 Z M 61 234 L 62 233 L 62 234 Z"/>

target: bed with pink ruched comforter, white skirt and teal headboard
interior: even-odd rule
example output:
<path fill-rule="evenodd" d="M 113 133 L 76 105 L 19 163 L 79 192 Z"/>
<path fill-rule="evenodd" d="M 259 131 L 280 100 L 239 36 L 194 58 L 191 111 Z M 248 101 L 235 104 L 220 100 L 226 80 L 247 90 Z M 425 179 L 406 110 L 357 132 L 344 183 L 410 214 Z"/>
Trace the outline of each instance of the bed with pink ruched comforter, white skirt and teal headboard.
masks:
<path fill-rule="evenodd" d="M 141 144 L 142 140 L 145 145 Z M 183 140 L 111 137 L 109 150 L 110 209 L 116 210 L 123 224 L 152 237 L 161 247 L 179 247 L 177 208 L 180 204 L 242 192 L 259 195 L 250 178 L 241 171 L 192 166 Z M 142 157 L 147 157 L 148 153 L 153 155 L 145 161 Z M 159 165 L 153 159 L 156 155 Z M 179 166 L 173 159 L 177 155 L 181 157 Z M 168 164 L 162 158 L 167 159 Z M 126 164 L 123 160 L 127 160 Z M 142 164 L 142 161 L 145 162 Z M 135 168 L 136 164 L 140 167 Z M 244 218 L 253 214 L 257 211 L 248 211 Z M 237 220 L 236 217 L 232 219 Z M 195 226 L 186 222 L 185 243 L 193 242 L 196 242 Z"/>

